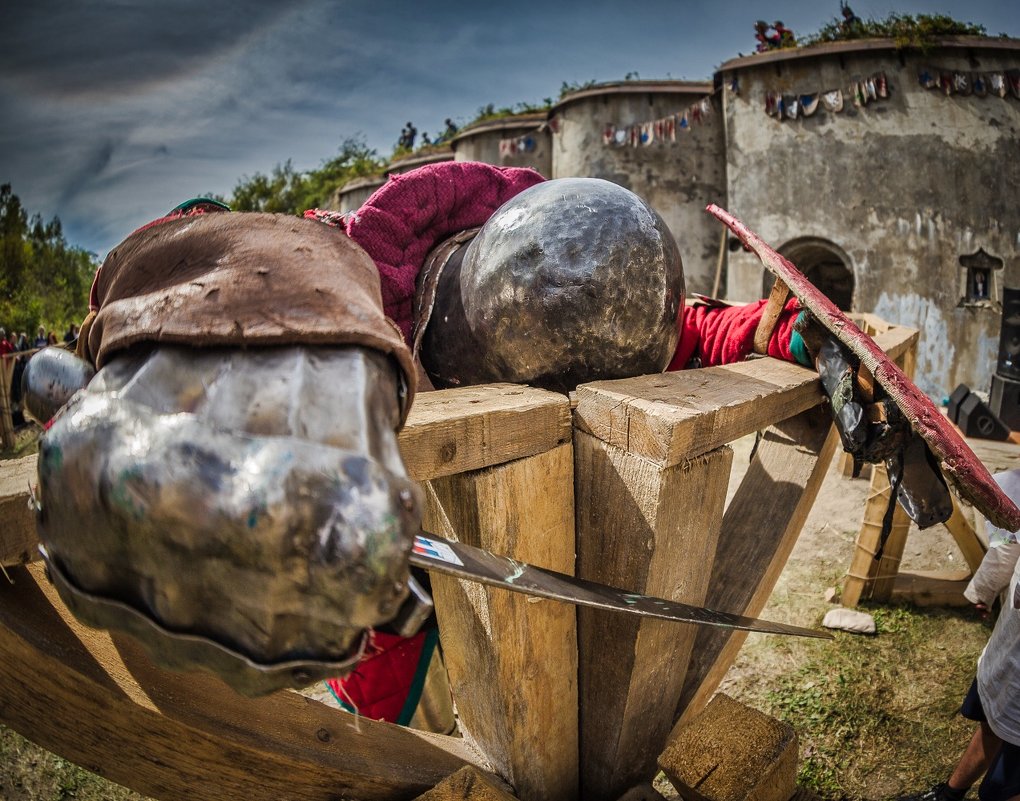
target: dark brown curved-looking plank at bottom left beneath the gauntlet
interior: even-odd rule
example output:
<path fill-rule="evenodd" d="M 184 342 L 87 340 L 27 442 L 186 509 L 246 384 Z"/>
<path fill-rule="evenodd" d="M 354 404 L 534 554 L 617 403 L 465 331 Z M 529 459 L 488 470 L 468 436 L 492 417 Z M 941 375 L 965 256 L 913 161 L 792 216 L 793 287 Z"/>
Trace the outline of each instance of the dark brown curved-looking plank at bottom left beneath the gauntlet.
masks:
<path fill-rule="evenodd" d="M 340 711 L 297 693 L 243 698 L 155 667 L 129 637 L 76 623 L 39 564 L 0 582 L 0 719 L 164 801 L 406 799 L 465 764 L 459 738 Z"/>

